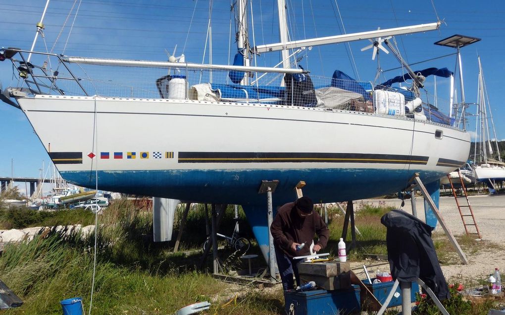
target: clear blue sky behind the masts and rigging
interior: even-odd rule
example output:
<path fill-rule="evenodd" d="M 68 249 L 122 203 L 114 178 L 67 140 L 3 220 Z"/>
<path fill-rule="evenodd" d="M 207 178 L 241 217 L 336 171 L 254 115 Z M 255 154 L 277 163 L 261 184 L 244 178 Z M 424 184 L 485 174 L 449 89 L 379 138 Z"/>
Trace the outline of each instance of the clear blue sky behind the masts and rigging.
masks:
<path fill-rule="evenodd" d="M 274 1 L 254 0 L 252 2 L 255 22 L 256 44 L 278 42 L 276 24 L 277 9 Z M 29 49 L 34 37 L 35 24 L 40 20 L 44 0 L 17 2 L 0 0 L 0 46 Z M 72 0 L 53 0 L 49 4 L 45 24 L 45 43 L 48 49 L 53 46 L 68 12 Z M 405 2 L 390 1 L 328 1 L 297 0 L 287 1 L 289 7 L 290 35 L 292 39 L 330 36 L 342 33 L 336 5 L 340 9 L 343 26 L 347 33 L 371 31 L 435 22 L 437 17 L 431 1 Z M 194 16 L 191 21 L 191 16 Z M 503 73 L 503 38 L 505 38 L 505 4 L 502 1 L 435 1 L 439 18 L 444 20 L 439 31 L 420 33 L 396 38 L 401 54 L 408 62 L 454 52 L 447 47 L 433 45 L 437 40 L 453 34 L 463 34 L 482 38 L 482 41 L 464 47 L 464 79 L 467 102 L 476 102 L 477 97 L 477 55 L 482 59 L 484 75 L 492 105 L 498 139 L 505 138 L 503 118 L 505 109 L 501 105 Z M 248 9 L 249 10 L 249 9 Z M 66 44 L 66 55 L 116 57 L 144 60 L 166 60 L 165 49 L 172 51 L 177 44 L 177 54 L 184 51 L 186 60 L 201 62 L 207 35 L 209 1 L 134 1 L 134 0 L 84 0 L 75 19 L 72 33 Z M 71 16 L 68 26 L 72 24 Z M 55 45 L 55 52 L 62 53 L 69 34 L 69 27 L 62 32 Z M 216 0 L 212 8 L 213 61 L 215 64 L 228 64 L 230 1 Z M 190 31 L 188 35 L 188 30 Z M 234 26 L 232 25 L 232 30 Z M 250 36 L 252 45 L 252 36 Z M 377 63 L 371 59 L 371 51 L 360 51 L 368 41 L 350 43 L 350 51 L 357 64 L 359 78 L 372 81 Z M 232 42 L 232 50 L 234 50 Z M 39 39 L 36 50 L 44 50 L 44 41 Z M 331 76 L 339 69 L 352 77 L 357 74 L 351 66 L 347 44 L 321 46 L 314 48 L 301 61 L 304 68 L 314 75 Z M 278 53 L 264 54 L 259 58 L 259 66 L 273 66 L 279 60 Z M 380 56 L 382 69 L 399 66 L 392 54 Z M 414 70 L 429 67 L 455 68 L 455 57 L 437 59 L 418 66 Z M 399 70 L 386 73 L 387 78 L 399 75 Z M 10 61 L 0 62 L 0 81 L 3 87 L 16 85 L 12 81 Z M 431 80 L 431 81 L 430 81 Z M 433 85 L 427 80 L 427 87 Z M 382 81 L 382 80 L 380 80 Z M 439 86 L 439 97 L 448 93 L 448 81 Z M 444 88 L 444 84 L 446 88 Z M 439 104 L 448 111 L 447 104 Z M 471 107 L 471 111 L 475 108 Z M 58 128 L 58 122 L 55 124 Z M 14 160 L 15 176 L 39 176 L 42 161 L 48 165 L 49 158 L 24 114 L 5 103 L 0 103 L 0 176 L 11 174 L 11 159 Z M 469 126 L 474 129 L 474 124 Z M 62 131 L 65 132 L 65 131 Z"/>

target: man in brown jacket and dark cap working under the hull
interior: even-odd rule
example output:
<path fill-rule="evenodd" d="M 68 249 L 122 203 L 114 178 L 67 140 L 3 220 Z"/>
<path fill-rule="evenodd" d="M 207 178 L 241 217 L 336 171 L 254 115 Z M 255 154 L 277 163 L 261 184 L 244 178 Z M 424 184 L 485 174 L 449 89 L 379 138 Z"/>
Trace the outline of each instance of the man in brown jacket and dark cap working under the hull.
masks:
<path fill-rule="evenodd" d="M 293 289 L 293 274 L 296 284 L 300 285 L 298 275 L 299 260 L 293 257 L 310 255 L 309 247 L 317 234 L 319 239 L 315 242 L 315 252 L 323 249 L 328 242 L 330 230 L 321 216 L 314 211 L 314 204 L 309 197 L 301 197 L 295 202 L 287 203 L 277 210 L 272 226 L 270 227 L 274 238 L 275 257 L 282 280 L 284 291 Z M 306 243 L 300 250 L 297 245 Z"/>

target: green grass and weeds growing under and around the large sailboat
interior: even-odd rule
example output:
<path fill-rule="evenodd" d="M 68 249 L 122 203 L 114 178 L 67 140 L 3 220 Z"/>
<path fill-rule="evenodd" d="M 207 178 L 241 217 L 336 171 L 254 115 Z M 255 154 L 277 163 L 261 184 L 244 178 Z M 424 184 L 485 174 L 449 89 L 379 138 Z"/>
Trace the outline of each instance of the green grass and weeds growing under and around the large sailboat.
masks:
<path fill-rule="evenodd" d="M 183 213 L 180 207 L 175 222 Z M 330 208 L 330 241 L 328 249 L 336 254 L 338 239 L 341 236 L 343 215 Z M 365 258 L 364 254 L 386 254 L 386 228 L 380 217 L 391 210 L 383 204 L 358 204 L 356 206 L 356 226 L 358 235 L 356 250 L 349 253 L 350 261 Z M 183 234 L 183 249 L 200 248 L 206 237 L 204 207 L 198 205 L 189 212 L 186 231 Z M 19 213 L 2 211 L 0 224 L 26 226 L 70 225 L 94 223 L 94 215 L 78 210 L 59 210 L 51 215 L 35 216 L 25 210 Z M 229 207 L 223 217 L 220 232 L 231 234 L 234 211 Z M 239 216 L 245 218 L 242 211 Z M 5 219 L 7 218 L 7 220 Z M 93 314 L 167 314 L 197 301 L 211 301 L 212 314 L 283 314 L 284 302 L 280 289 L 256 290 L 231 285 L 213 279 L 210 275 L 210 261 L 199 268 L 200 253 L 172 253 L 173 241 L 153 242 L 152 213 L 128 201 L 111 205 L 98 217 L 102 224 L 97 235 L 97 269 L 95 291 L 93 294 Z M 177 235 L 179 226 L 174 226 Z M 240 230 L 251 237 L 250 228 L 241 224 Z M 24 301 L 22 307 L 6 311 L 6 314 L 60 314 L 60 300 L 80 296 L 85 311 L 89 307 L 91 279 L 93 270 L 94 234 L 81 237 L 78 234 L 51 230 L 37 236 L 31 242 L 8 244 L 0 256 L 0 275 L 2 280 Z M 175 237 L 174 237 L 175 238 Z M 348 237 L 349 239 L 349 237 Z M 442 261 L 451 262 L 451 246 L 442 235 L 435 234 L 435 246 Z M 499 246 L 485 242 L 475 242 L 470 237 L 458 238 L 462 247 L 470 250 Z M 253 243 L 254 244 L 254 243 Z M 473 249 L 472 249 L 473 250 Z M 260 254 L 257 245 L 251 249 Z M 225 257 L 229 253 L 220 252 Z M 260 255 L 261 257 L 261 255 Z M 456 259 L 457 256 L 456 256 Z M 459 262 L 459 261 L 457 261 Z M 242 262 L 242 267 L 246 267 Z M 264 264 L 261 258 L 254 263 Z M 480 279 L 482 278 L 482 279 Z M 480 284 L 483 279 L 480 277 Z M 464 279 L 451 279 L 462 282 Z M 466 282 L 467 287 L 473 285 Z M 483 301 L 472 306 L 464 314 L 484 314 L 498 302 Z M 388 311 L 393 314 L 394 311 Z"/>

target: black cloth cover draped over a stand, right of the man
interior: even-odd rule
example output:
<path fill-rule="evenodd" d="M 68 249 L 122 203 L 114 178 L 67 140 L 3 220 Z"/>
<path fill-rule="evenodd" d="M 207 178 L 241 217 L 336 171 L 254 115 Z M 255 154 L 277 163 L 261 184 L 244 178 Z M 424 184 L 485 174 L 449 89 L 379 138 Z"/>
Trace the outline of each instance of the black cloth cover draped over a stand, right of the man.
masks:
<path fill-rule="evenodd" d="M 387 228 L 387 252 L 393 280 L 412 282 L 419 278 L 439 300 L 449 298 L 447 282 L 431 240 L 433 228 L 401 210 L 386 213 L 381 223 Z"/>

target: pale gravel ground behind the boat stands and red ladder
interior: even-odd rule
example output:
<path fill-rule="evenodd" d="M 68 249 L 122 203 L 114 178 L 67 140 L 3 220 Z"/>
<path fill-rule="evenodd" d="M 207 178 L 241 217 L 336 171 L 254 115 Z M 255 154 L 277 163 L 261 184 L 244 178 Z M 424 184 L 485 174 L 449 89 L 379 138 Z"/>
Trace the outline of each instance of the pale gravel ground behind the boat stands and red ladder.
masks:
<path fill-rule="evenodd" d="M 466 204 L 464 199 L 459 199 L 460 205 Z M 398 199 L 389 200 L 365 200 L 366 203 L 378 203 L 383 201 L 386 205 L 391 205 L 396 209 L 400 209 L 401 201 Z M 490 248 L 480 249 L 475 254 L 465 252 L 469 265 L 462 263 L 456 265 L 442 266 L 442 271 L 447 279 L 457 279 L 460 274 L 464 278 L 480 279 L 481 276 L 489 275 L 494 272 L 494 268 L 499 268 L 501 273 L 505 271 L 505 233 L 503 228 L 505 224 L 505 195 L 479 195 L 469 197 L 470 205 L 472 206 L 477 225 L 479 226 L 482 240 L 493 242 L 501 245 L 501 249 Z M 440 198 L 440 212 L 446 226 L 452 234 L 465 234 L 463 222 L 460 213 L 456 207 L 456 202 L 453 197 Z M 406 200 L 405 206 L 402 208 L 412 214 L 411 201 Z M 416 197 L 416 209 L 418 217 L 424 220 L 424 205 L 423 198 Z M 462 208 L 465 209 L 465 208 Z M 471 221 L 471 217 L 465 217 Z M 466 221 L 470 223 L 469 221 Z M 470 226 L 469 229 L 473 228 Z M 440 224 L 437 225 L 435 233 L 446 237 Z M 496 247 L 496 246 L 493 246 Z"/>

